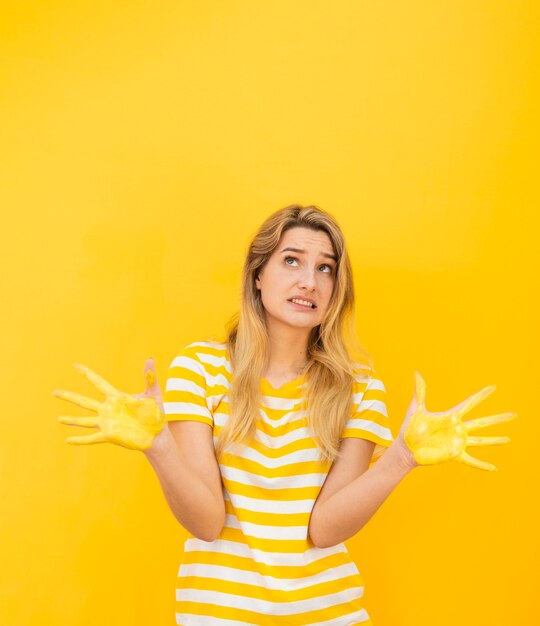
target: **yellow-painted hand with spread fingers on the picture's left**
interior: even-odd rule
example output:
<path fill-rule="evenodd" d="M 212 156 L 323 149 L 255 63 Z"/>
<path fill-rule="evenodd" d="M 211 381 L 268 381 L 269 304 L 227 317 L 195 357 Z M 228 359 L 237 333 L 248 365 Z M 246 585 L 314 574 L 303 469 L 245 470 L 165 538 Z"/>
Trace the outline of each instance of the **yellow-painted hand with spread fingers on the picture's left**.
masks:
<path fill-rule="evenodd" d="M 132 450 L 148 449 L 165 425 L 153 359 L 148 359 L 145 365 L 145 391 L 134 395 L 115 389 L 85 365 L 74 363 L 73 367 L 105 394 L 105 400 L 99 402 L 61 389 L 52 392 L 58 398 L 97 413 L 95 417 L 59 417 L 58 421 L 62 424 L 100 429 L 91 435 L 69 437 L 67 443 L 80 445 L 108 442 Z"/>

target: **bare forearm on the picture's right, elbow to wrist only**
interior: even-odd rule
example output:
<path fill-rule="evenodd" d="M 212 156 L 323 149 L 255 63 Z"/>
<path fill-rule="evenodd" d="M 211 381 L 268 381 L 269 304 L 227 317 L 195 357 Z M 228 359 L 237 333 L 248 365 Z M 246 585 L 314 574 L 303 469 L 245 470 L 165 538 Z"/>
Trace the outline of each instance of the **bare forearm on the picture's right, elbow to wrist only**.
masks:
<path fill-rule="evenodd" d="M 309 523 L 315 545 L 327 548 L 355 535 L 412 469 L 393 443 L 370 469 L 320 506 L 315 504 Z"/>

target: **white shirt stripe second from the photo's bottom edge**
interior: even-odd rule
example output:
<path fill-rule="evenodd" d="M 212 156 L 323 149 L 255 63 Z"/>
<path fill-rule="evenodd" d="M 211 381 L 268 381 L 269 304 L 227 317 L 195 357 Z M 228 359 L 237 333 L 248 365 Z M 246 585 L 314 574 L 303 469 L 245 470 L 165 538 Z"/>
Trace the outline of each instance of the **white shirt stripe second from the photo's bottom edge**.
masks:
<path fill-rule="evenodd" d="M 295 602 L 269 602 L 242 596 L 242 609 L 255 611 L 263 615 L 294 615 L 295 613 L 308 613 L 320 611 L 345 602 L 352 602 L 362 597 L 362 587 L 351 587 L 337 593 L 309 598 L 308 600 L 297 600 Z M 213 604 L 238 608 L 238 596 L 221 591 L 209 591 L 205 589 L 177 589 L 176 600 L 178 602 L 200 602 L 202 604 Z"/>

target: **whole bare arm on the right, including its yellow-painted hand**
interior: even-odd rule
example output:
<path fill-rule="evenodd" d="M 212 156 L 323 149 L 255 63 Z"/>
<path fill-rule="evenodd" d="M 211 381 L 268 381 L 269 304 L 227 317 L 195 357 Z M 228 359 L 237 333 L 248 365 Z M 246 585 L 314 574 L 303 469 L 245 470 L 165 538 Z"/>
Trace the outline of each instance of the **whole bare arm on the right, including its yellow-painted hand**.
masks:
<path fill-rule="evenodd" d="M 415 395 L 397 439 L 385 454 L 367 471 L 363 471 L 369 458 L 366 455 L 366 446 L 361 449 L 360 444 L 348 444 L 344 455 L 338 459 L 338 473 L 342 480 L 334 481 L 331 495 L 325 494 L 326 499 L 323 498 L 320 502 L 318 499 L 313 507 L 309 523 L 313 543 L 324 548 L 357 533 L 399 482 L 419 465 L 456 460 L 472 467 L 494 470 L 495 466 L 471 457 L 465 448 L 471 445 L 507 443 L 509 438 L 470 437 L 468 432 L 515 419 L 517 415 L 508 412 L 462 421 L 463 416 L 494 389 L 494 385 L 485 387 L 448 411 L 430 412 L 425 407 L 425 382 L 416 372 Z M 347 475 L 355 477 L 347 482 Z M 323 491 L 325 487 L 326 483 Z"/>

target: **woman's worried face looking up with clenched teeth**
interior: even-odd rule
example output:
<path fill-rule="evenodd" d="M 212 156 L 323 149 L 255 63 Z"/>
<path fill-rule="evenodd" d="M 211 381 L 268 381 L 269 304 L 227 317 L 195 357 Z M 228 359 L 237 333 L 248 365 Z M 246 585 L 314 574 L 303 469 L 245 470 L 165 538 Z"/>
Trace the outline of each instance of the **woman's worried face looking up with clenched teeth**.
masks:
<path fill-rule="evenodd" d="M 256 279 L 266 324 L 311 330 L 324 319 L 332 297 L 336 255 L 324 231 L 296 226 L 286 230 Z M 292 299 L 312 302 L 294 303 Z"/>

